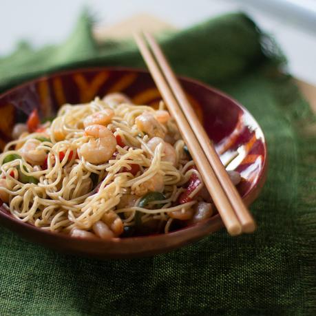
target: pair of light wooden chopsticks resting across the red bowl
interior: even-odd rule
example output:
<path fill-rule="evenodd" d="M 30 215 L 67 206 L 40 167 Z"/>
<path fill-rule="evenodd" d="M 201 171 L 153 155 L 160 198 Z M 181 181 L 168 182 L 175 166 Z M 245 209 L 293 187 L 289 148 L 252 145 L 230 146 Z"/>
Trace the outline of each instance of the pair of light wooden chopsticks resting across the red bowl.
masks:
<path fill-rule="evenodd" d="M 252 233 L 255 230 L 255 222 L 231 182 L 158 43 L 148 32 L 144 32 L 143 35 L 134 34 L 134 37 L 227 231 L 230 235 Z"/>

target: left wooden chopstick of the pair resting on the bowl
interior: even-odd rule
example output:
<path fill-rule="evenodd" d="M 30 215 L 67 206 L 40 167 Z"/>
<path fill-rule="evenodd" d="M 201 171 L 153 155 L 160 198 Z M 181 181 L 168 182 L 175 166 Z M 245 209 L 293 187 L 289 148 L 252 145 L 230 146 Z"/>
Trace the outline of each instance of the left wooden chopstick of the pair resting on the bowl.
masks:
<path fill-rule="evenodd" d="M 178 105 L 176 98 L 173 96 L 169 85 L 165 81 L 164 76 L 160 72 L 154 57 L 151 55 L 151 52 L 147 48 L 147 45 L 140 34 L 134 34 L 136 43 L 140 50 L 140 53 L 143 55 L 145 63 L 147 64 L 151 76 L 154 78 L 154 81 L 162 95 L 162 98 L 165 100 L 165 103 L 171 112 L 171 115 L 176 120 L 176 123 L 179 127 L 180 134 L 185 140 L 187 147 L 193 157 L 193 160 L 196 162 L 196 167 L 200 171 L 200 175 L 204 181 L 205 186 L 207 187 L 215 206 L 220 213 L 224 226 L 227 228 L 227 231 L 231 235 L 239 235 L 242 232 L 241 224 L 233 210 L 231 203 L 229 202 L 226 193 L 222 189 L 218 178 L 215 176 L 215 173 L 205 156 L 200 143 L 196 135 L 193 133 L 191 126 L 187 122 L 185 115 L 182 112 L 182 109 Z"/>

